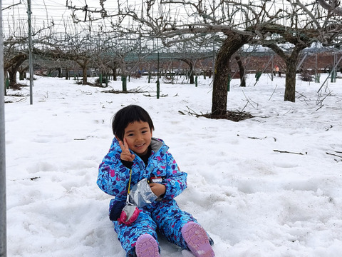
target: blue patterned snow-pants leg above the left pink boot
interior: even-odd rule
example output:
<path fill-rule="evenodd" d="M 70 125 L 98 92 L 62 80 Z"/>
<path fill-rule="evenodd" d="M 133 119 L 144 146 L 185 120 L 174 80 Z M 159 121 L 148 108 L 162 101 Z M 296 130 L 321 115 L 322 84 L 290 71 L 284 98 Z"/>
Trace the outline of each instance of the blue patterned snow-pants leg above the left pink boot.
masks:
<path fill-rule="evenodd" d="M 136 256 L 135 246 L 137 244 L 138 238 L 144 234 L 149 234 L 152 236 L 159 247 L 157 233 L 155 232 L 157 225 L 150 217 L 150 213 L 141 211 L 137 220 L 130 226 L 127 226 L 123 223 L 120 224 L 118 221 L 114 221 L 113 223 L 115 225 L 115 231 L 118 233 L 118 240 L 120 241 L 121 246 L 123 246 L 123 249 L 126 251 L 127 256 Z M 141 242 L 142 240 L 140 239 L 140 243 Z"/>

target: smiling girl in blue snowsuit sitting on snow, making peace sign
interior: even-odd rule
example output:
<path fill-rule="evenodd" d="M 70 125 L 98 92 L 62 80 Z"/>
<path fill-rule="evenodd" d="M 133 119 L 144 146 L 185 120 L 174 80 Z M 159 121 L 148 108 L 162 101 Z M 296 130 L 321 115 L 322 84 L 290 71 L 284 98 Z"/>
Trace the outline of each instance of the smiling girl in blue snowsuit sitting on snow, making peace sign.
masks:
<path fill-rule="evenodd" d="M 187 188 L 187 173 L 180 171 L 168 146 L 152 138 L 154 126 L 147 111 L 126 106 L 115 114 L 112 126 L 115 138 L 100 163 L 97 183 L 115 196 L 110 201 L 110 219 L 126 256 L 160 257 L 158 231 L 196 257 L 213 257 L 212 239 L 190 213 L 177 206 L 174 198 Z M 144 178 L 157 199 L 134 213 L 122 211 L 130 189 Z"/>

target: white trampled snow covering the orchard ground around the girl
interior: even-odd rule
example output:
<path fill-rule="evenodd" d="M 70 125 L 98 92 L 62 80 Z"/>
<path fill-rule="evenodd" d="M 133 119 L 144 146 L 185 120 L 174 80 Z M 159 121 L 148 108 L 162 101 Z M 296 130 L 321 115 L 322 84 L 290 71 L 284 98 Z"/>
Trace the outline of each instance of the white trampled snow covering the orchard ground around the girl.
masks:
<path fill-rule="evenodd" d="M 321 84 L 298 79 L 291 103 L 284 78 L 255 84 L 251 74 L 246 88 L 234 79 L 228 109 L 254 115 L 239 122 L 189 115 L 211 111 L 212 80 L 184 80 L 162 81 L 157 99 L 145 77 L 128 82 L 145 93 L 110 94 L 120 79 L 98 88 L 37 76 L 33 105 L 29 87 L 6 96 L 8 255 L 125 256 L 108 218 L 112 196 L 95 182 L 113 114 L 139 104 L 188 173 L 177 203 L 212 236 L 216 256 L 341 256 L 342 80 L 318 94 Z M 192 256 L 159 239 L 163 257 Z"/>

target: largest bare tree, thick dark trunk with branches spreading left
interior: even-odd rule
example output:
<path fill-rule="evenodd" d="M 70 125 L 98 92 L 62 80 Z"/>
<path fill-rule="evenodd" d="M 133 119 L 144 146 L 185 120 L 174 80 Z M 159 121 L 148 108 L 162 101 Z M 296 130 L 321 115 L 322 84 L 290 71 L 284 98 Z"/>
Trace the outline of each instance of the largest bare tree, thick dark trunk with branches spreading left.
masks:
<path fill-rule="evenodd" d="M 115 22 L 111 22 L 113 29 L 139 34 L 142 37 L 148 36 L 151 38 L 152 36 L 162 40 L 165 46 L 172 46 L 172 44 L 178 42 L 194 41 L 205 35 L 221 34 L 222 41 L 226 43 L 222 45 L 224 50 L 219 51 L 217 54 L 212 114 L 221 115 L 226 113 L 229 69 L 226 69 L 225 66 L 229 64 L 232 55 L 239 50 L 239 47 L 246 44 L 254 36 L 252 31 L 244 31 L 245 24 L 255 21 L 261 14 L 252 11 L 248 5 L 234 1 L 220 1 L 215 6 L 213 1 L 205 1 L 205 3 L 204 1 L 198 1 L 194 4 L 190 1 L 162 0 L 157 2 L 147 0 L 140 6 L 138 4 L 128 5 L 118 1 L 117 11 L 115 11 L 115 14 L 109 15 L 105 11 L 103 2 L 100 2 L 102 3 L 101 9 L 98 9 L 98 11 L 88 9 L 88 13 L 93 15 L 93 20 L 100 19 L 100 17 L 116 19 Z M 170 11 L 171 6 L 172 9 L 185 11 L 186 14 L 181 16 L 177 11 L 172 13 Z M 81 11 L 81 8 L 75 8 L 70 3 L 68 7 L 74 9 L 74 11 Z M 248 9 L 248 11 L 245 11 L 242 7 Z M 90 14 L 88 15 L 89 19 Z M 96 14 L 100 17 L 96 18 Z M 73 17 L 76 19 L 76 13 Z M 129 26 L 127 23 L 124 26 L 125 20 L 130 21 Z M 76 22 L 80 21 L 80 19 L 76 19 Z M 235 21 L 237 24 L 235 24 Z M 229 46 L 231 40 L 234 46 Z M 222 89 L 222 80 L 224 81 L 224 90 Z"/>

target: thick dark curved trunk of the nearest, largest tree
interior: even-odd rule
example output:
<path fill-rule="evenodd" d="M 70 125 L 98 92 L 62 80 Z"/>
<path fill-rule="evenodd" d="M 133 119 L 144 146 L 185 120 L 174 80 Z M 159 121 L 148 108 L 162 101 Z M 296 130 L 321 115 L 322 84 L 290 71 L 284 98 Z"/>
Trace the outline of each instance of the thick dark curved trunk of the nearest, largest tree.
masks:
<path fill-rule="evenodd" d="M 234 53 L 250 39 L 250 36 L 232 34 L 227 36 L 219 49 L 215 61 L 214 85 L 212 89 L 212 115 L 227 114 L 227 85 L 229 61 Z"/>

